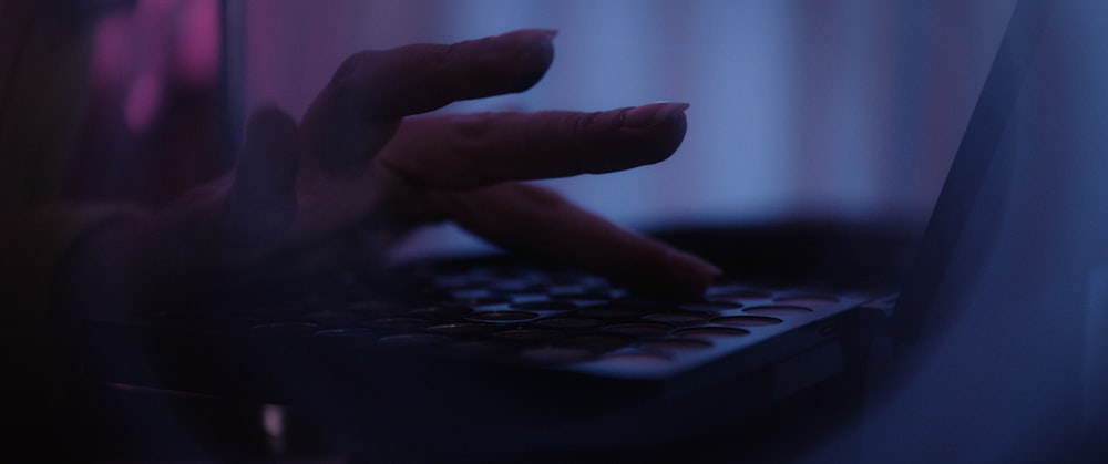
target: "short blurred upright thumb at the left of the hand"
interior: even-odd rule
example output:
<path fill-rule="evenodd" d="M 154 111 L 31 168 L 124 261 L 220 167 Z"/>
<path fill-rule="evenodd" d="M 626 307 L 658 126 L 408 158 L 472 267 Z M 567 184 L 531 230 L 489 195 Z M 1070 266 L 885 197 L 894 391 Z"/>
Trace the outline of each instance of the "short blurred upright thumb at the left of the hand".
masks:
<path fill-rule="evenodd" d="M 250 115 L 227 197 L 228 234 L 236 243 L 274 237 L 296 214 L 296 123 L 276 107 Z"/>

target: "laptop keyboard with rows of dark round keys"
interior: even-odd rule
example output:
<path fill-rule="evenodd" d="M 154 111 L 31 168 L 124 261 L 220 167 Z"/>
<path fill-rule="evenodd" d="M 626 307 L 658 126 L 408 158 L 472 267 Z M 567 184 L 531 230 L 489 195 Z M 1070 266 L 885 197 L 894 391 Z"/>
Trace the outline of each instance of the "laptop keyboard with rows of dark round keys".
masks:
<path fill-rule="evenodd" d="M 399 277 L 398 277 L 399 276 Z M 830 316 L 865 298 L 727 279 L 704 299 L 633 295 L 585 272 L 534 265 L 425 265 L 346 271 L 266 289 L 232 305 L 150 322 L 351 349 L 585 374 L 663 379 L 800 332 L 832 337 Z"/>

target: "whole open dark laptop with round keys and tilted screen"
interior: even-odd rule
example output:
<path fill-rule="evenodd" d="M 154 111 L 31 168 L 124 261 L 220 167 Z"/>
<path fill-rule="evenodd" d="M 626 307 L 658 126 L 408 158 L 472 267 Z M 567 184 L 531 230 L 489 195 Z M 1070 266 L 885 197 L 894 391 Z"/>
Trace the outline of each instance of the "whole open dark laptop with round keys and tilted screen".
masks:
<path fill-rule="evenodd" d="M 342 269 L 141 320 L 86 320 L 88 365 L 104 384 L 289 408 L 366 456 L 760 440 L 763 424 L 780 432 L 791 424 L 780 417 L 860 390 L 869 361 L 889 358 L 874 340 L 919 343 L 955 319 L 935 308 L 936 289 L 988 248 L 972 246 L 996 227 L 979 199 L 1007 181 L 1007 124 L 1049 9 L 1024 0 L 1013 13 L 903 286 L 751 274 L 679 301 L 511 257 Z"/>

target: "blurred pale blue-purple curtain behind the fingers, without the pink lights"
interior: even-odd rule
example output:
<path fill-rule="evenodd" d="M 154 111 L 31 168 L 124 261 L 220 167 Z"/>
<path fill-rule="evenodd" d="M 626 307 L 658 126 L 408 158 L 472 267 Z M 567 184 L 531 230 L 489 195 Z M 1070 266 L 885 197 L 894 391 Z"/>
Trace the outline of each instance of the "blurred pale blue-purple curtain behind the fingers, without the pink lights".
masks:
<path fill-rule="evenodd" d="M 1013 6 L 246 0 L 246 101 L 301 114 L 357 50 L 553 28 L 556 58 L 533 90 L 445 111 L 693 104 L 674 158 L 546 182 L 587 207 L 632 227 L 794 215 L 920 220 Z"/>

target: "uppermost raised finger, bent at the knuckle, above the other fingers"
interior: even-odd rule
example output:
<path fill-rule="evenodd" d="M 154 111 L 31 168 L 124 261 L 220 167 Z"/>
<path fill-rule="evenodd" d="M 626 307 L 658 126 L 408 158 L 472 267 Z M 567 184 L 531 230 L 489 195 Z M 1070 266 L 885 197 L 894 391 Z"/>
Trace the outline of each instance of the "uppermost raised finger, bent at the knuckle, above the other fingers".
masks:
<path fill-rule="evenodd" d="M 314 162 L 367 159 L 388 141 L 400 117 L 531 87 L 553 60 L 553 37 L 548 30 L 522 30 L 350 56 L 305 115 L 305 141 L 317 152 Z"/>

